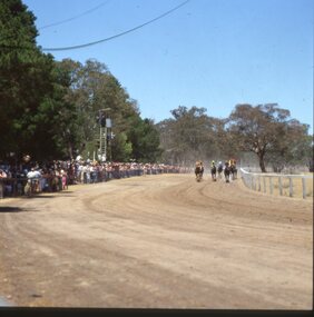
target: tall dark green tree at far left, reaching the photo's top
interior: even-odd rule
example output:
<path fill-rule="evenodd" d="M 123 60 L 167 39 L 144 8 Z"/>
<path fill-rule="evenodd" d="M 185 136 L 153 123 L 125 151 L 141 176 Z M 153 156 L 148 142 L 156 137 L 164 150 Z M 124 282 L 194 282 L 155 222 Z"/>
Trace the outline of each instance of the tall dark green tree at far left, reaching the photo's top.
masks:
<path fill-rule="evenodd" d="M 36 46 L 35 16 L 20 0 L 0 2 L 0 156 L 61 156 L 56 133 L 62 92 L 51 55 Z M 58 126 L 56 126 L 58 125 Z"/>

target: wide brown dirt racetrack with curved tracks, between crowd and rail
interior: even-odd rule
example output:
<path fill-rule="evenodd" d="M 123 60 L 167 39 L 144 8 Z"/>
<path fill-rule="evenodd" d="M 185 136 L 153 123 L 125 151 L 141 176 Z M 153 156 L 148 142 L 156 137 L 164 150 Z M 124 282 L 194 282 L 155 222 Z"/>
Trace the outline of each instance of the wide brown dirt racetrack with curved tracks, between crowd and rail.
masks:
<path fill-rule="evenodd" d="M 14 306 L 313 309 L 313 201 L 134 177 L 0 202 Z"/>

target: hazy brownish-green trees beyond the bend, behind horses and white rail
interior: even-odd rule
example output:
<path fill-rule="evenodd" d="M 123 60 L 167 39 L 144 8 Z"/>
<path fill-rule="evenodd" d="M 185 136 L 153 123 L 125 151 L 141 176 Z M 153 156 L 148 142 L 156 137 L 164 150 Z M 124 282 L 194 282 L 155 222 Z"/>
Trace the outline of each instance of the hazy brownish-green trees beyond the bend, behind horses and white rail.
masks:
<path fill-rule="evenodd" d="M 276 103 L 236 105 L 228 118 L 206 115 L 205 108 L 179 106 L 171 119 L 159 122 L 165 160 L 192 164 L 245 158 L 257 161 L 262 172 L 285 167 L 307 166 L 313 170 L 313 136 L 308 125 L 291 118 Z M 249 161 L 248 160 L 248 161 Z"/>

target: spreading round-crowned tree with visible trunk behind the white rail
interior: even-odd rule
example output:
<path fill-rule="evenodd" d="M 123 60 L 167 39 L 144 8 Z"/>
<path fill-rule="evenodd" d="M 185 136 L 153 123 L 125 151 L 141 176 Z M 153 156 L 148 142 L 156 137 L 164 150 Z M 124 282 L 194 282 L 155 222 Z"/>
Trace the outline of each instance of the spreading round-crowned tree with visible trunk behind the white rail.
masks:
<path fill-rule="evenodd" d="M 266 158 L 292 161 L 294 147 L 304 141 L 306 131 L 305 125 L 290 119 L 290 111 L 276 103 L 237 105 L 227 125 L 233 142 L 256 153 L 262 172 L 266 172 Z"/>

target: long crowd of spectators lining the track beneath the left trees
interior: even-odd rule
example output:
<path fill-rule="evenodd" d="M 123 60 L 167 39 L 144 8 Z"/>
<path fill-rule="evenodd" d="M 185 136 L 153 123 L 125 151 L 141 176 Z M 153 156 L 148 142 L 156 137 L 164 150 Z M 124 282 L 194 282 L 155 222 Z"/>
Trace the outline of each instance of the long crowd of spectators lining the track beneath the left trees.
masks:
<path fill-rule="evenodd" d="M 179 166 L 140 162 L 99 162 L 92 160 L 28 161 L 19 166 L 0 165 L 0 198 L 51 192 L 69 185 L 95 184 L 143 175 L 179 174 L 189 170 Z"/>

